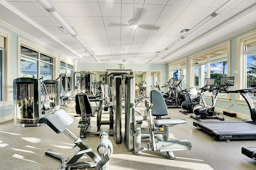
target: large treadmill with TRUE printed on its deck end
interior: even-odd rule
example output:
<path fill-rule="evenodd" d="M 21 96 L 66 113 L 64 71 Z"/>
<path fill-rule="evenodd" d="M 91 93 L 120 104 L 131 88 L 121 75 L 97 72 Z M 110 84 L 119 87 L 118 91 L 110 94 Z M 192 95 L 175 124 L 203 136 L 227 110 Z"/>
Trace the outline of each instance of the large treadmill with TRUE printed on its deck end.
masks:
<path fill-rule="evenodd" d="M 234 86 L 234 77 L 220 78 L 220 85 Z M 251 118 L 242 121 L 201 121 L 193 122 L 193 125 L 204 129 L 218 140 L 230 139 L 256 139 L 256 111 L 248 92 L 253 89 L 242 89 L 234 91 L 226 91 L 227 93 L 241 94 L 250 109 Z"/>

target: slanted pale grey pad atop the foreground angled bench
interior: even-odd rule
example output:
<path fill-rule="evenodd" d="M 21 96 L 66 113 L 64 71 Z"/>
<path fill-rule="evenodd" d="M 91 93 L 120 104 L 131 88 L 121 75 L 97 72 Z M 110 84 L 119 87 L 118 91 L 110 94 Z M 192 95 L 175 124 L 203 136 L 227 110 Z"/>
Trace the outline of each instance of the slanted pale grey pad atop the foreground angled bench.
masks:
<path fill-rule="evenodd" d="M 41 119 L 39 119 L 38 123 L 46 123 L 52 130 L 56 133 L 62 133 L 66 129 L 65 123 L 63 123 L 56 115 L 49 114 Z"/>

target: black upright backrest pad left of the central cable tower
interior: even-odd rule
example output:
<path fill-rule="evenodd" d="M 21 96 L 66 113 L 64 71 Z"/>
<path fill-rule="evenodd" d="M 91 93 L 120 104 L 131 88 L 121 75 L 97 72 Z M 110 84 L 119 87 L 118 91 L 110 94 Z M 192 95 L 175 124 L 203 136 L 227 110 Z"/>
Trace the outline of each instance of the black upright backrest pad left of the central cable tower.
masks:
<path fill-rule="evenodd" d="M 76 114 L 81 115 L 84 112 L 86 115 L 92 114 L 92 106 L 90 100 L 85 93 L 76 94 Z"/>

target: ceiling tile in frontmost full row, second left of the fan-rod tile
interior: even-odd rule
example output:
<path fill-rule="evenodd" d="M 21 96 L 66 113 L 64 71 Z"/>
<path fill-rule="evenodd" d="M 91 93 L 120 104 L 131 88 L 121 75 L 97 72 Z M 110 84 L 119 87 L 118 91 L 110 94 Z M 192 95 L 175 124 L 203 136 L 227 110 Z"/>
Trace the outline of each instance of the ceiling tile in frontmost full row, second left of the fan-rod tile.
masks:
<path fill-rule="evenodd" d="M 98 3 L 77 3 L 77 6 L 83 16 L 101 16 Z"/>

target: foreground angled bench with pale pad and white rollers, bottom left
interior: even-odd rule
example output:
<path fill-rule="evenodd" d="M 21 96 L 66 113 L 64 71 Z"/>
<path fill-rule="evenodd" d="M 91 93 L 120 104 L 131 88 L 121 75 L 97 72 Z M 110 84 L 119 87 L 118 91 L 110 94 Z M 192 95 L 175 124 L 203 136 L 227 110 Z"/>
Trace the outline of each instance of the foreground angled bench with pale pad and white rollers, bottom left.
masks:
<path fill-rule="evenodd" d="M 66 111 L 62 109 L 39 119 L 39 126 L 47 124 L 56 133 L 64 133 L 74 142 L 74 147 L 80 148 L 80 150 L 78 150 L 78 152 L 76 152 L 76 154 L 74 154 L 74 156 L 72 156 L 70 159 L 68 159 L 68 157 L 64 154 L 58 153 L 51 149 L 47 150 L 45 154 L 62 160 L 62 165 L 58 170 L 92 167 L 96 167 L 95 170 L 99 170 L 100 168 L 102 168 L 102 170 L 108 170 L 108 160 L 113 153 L 112 143 L 108 139 L 108 131 L 104 130 L 100 134 L 100 141 L 98 142 L 97 151 L 103 155 L 103 158 L 101 158 L 100 155 L 94 152 L 94 150 L 86 145 L 86 143 L 84 143 L 80 138 L 76 137 L 71 131 L 67 129 L 66 126 L 70 125 L 72 122 L 72 117 L 70 117 Z M 94 162 L 77 162 L 85 153 L 90 156 Z"/>

